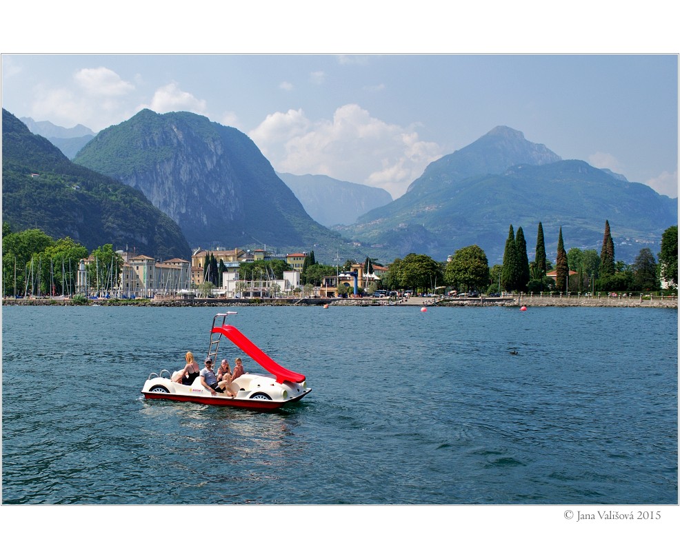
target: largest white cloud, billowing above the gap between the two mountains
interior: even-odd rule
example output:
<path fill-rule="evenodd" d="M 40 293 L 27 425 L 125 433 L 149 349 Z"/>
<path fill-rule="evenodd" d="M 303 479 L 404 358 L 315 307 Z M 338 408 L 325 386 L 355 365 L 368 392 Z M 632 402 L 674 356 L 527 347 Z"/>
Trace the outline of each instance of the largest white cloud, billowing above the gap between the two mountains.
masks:
<path fill-rule="evenodd" d="M 394 198 L 441 156 L 437 143 L 354 104 L 316 122 L 302 110 L 270 114 L 249 136 L 279 172 L 327 174 L 384 188 Z"/>

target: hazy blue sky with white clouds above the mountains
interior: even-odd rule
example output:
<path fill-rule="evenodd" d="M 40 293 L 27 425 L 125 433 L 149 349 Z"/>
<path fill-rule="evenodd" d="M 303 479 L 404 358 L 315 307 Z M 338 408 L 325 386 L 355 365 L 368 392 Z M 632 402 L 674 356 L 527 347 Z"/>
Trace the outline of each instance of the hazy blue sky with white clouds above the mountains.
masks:
<path fill-rule="evenodd" d="M 3 51 L 5 52 L 5 51 Z M 381 187 L 497 125 L 678 196 L 677 54 L 12 54 L 2 106 L 98 132 L 144 108 L 250 136 L 275 170 Z"/>

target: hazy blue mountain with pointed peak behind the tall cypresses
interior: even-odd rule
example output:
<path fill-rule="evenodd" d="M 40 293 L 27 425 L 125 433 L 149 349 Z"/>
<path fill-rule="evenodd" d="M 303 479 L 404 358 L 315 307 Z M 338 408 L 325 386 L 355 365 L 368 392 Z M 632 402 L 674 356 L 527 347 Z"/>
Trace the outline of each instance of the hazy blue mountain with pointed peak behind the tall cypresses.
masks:
<path fill-rule="evenodd" d="M 369 246 L 438 260 L 476 244 L 493 264 L 502 261 L 510 224 L 523 228 L 532 253 L 541 221 L 554 261 L 559 227 L 567 249 L 599 252 L 606 220 L 617 260 L 632 262 L 643 247 L 659 251 L 663 231 L 677 225 L 677 199 L 584 161 L 561 161 L 521 132 L 497 127 L 430 163 L 401 198 L 338 229 Z"/>

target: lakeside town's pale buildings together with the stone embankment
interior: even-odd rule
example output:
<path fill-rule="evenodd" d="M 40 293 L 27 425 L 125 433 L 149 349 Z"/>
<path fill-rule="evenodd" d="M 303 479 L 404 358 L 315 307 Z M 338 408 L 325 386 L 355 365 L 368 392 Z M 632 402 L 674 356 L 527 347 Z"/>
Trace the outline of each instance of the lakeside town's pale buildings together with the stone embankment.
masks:
<path fill-rule="evenodd" d="M 81 258 L 74 274 L 74 292 L 40 294 L 26 292 L 23 296 L 5 296 L 3 304 L 50 305 L 361 305 L 361 306 L 590 306 L 590 307 L 670 307 L 677 308 L 677 294 L 632 294 L 565 292 L 524 294 L 493 292 L 480 294 L 476 290 L 458 292 L 447 286 L 435 286 L 432 293 L 413 292 L 412 289 L 381 289 L 381 280 L 389 267 L 377 263 L 346 263 L 336 274 L 323 276 L 319 285 L 302 283 L 301 276 L 310 254 L 294 252 L 274 254 L 265 249 L 254 251 L 234 248 L 226 250 L 194 250 L 191 261 L 172 258 L 155 261 L 143 254 L 135 255 L 119 250 L 115 253 L 120 265 L 115 272 L 115 261 L 108 272 L 97 274 L 92 282 L 90 271 L 100 268 L 97 256 Z M 221 277 L 208 281 L 211 261 L 219 262 Z M 267 263 L 286 263 L 277 277 Z M 206 264 L 208 263 L 208 264 Z M 251 276 L 241 276 L 243 267 L 251 266 Z M 366 272 L 366 268 L 370 272 Z M 101 263 L 106 270 L 106 264 Z M 257 276 L 256 276 L 257 270 Z M 548 272 L 548 277 L 555 272 Z M 570 272 L 575 275 L 575 272 Z M 27 282 L 28 285 L 28 282 Z"/>

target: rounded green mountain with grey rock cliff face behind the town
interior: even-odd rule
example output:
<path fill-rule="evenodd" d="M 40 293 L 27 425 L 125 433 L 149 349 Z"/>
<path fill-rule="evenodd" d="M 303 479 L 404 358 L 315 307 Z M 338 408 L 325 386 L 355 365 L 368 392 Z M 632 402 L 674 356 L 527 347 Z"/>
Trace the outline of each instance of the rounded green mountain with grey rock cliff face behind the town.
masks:
<path fill-rule="evenodd" d="M 75 161 L 141 190 L 194 247 L 299 251 L 319 243 L 334 253 L 339 243 L 246 134 L 205 116 L 143 110 L 99 132 Z"/>

